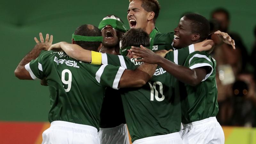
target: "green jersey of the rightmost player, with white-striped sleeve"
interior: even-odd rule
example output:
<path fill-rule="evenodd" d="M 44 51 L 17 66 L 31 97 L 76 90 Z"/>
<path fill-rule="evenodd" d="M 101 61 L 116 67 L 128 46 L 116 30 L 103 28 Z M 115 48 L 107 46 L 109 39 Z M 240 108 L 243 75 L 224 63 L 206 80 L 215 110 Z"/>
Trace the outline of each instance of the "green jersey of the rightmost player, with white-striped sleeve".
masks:
<path fill-rule="evenodd" d="M 207 52 L 193 52 L 184 63 L 190 69 L 207 66 L 209 71 L 203 81 L 196 85 L 180 88 L 182 123 L 188 124 L 216 116 L 217 103 L 216 61 Z"/>

